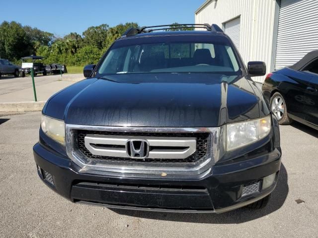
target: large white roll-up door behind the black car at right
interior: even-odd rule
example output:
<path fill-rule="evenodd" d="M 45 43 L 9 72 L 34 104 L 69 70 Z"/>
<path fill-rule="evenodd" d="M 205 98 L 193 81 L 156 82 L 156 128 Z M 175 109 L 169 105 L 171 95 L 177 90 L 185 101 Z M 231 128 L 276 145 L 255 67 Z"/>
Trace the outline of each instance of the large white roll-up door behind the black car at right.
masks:
<path fill-rule="evenodd" d="M 318 50 L 318 0 L 281 0 L 275 69 Z"/>

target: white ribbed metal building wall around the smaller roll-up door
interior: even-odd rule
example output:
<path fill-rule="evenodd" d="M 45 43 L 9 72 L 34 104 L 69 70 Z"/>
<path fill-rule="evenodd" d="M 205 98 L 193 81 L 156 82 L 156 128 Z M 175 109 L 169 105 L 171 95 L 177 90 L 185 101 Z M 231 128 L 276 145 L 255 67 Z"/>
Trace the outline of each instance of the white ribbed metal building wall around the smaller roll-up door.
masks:
<path fill-rule="evenodd" d="M 195 23 L 225 23 L 240 17 L 239 53 L 245 62 L 264 61 L 269 73 L 273 48 L 273 28 L 277 0 L 207 0 L 195 12 Z M 253 77 L 263 82 L 265 77 Z"/>

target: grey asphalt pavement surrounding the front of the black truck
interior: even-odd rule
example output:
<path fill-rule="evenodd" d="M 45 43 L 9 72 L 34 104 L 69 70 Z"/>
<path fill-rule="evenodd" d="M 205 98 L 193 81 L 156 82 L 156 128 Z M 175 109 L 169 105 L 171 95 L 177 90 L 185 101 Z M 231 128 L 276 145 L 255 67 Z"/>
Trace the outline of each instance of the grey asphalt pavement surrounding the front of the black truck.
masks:
<path fill-rule="evenodd" d="M 281 126 L 283 164 L 265 209 L 174 214 L 73 204 L 57 195 L 36 173 L 32 146 L 38 140 L 39 124 L 40 112 L 0 115 L 1 238 L 318 236 L 318 131 L 314 129 L 299 123 Z"/>

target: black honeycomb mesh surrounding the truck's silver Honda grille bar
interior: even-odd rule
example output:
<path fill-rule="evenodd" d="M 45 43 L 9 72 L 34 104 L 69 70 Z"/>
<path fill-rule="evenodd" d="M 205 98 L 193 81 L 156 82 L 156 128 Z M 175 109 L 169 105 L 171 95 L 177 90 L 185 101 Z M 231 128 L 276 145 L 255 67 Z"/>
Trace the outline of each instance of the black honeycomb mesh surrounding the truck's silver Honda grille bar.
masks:
<path fill-rule="evenodd" d="M 91 135 L 109 135 L 109 136 L 139 136 L 139 137 L 182 137 L 196 138 L 196 150 L 185 159 L 163 159 L 163 158 L 128 158 L 128 157 L 110 157 L 93 155 L 85 146 L 85 136 Z M 124 131 L 99 131 L 99 130 L 77 130 L 77 146 L 80 153 L 85 157 L 94 160 L 109 162 L 137 162 L 137 163 L 169 163 L 169 164 L 191 164 L 205 159 L 208 151 L 208 140 L 210 133 L 175 133 L 175 132 L 124 132 Z M 116 146 L 115 146 L 116 147 Z M 115 148 L 114 147 L 114 148 Z"/>

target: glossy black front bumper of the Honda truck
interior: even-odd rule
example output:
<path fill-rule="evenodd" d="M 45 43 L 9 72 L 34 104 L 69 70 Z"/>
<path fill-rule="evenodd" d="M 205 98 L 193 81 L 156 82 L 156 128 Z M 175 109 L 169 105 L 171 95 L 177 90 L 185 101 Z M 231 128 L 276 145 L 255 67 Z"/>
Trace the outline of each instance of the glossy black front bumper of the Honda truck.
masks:
<path fill-rule="evenodd" d="M 253 203 L 274 190 L 281 164 L 276 148 L 245 161 L 216 164 L 201 179 L 127 178 L 79 173 L 66 155 L 39 143 L 33 151 L 40 178 L 72 202 L 169 212 L 221 213 Z M 272 185 L 262 190 L 261 179 L 275 173 Z M 259 191 L 242 196 L 244 184 L 255 181 L 260 181 Z"/>

